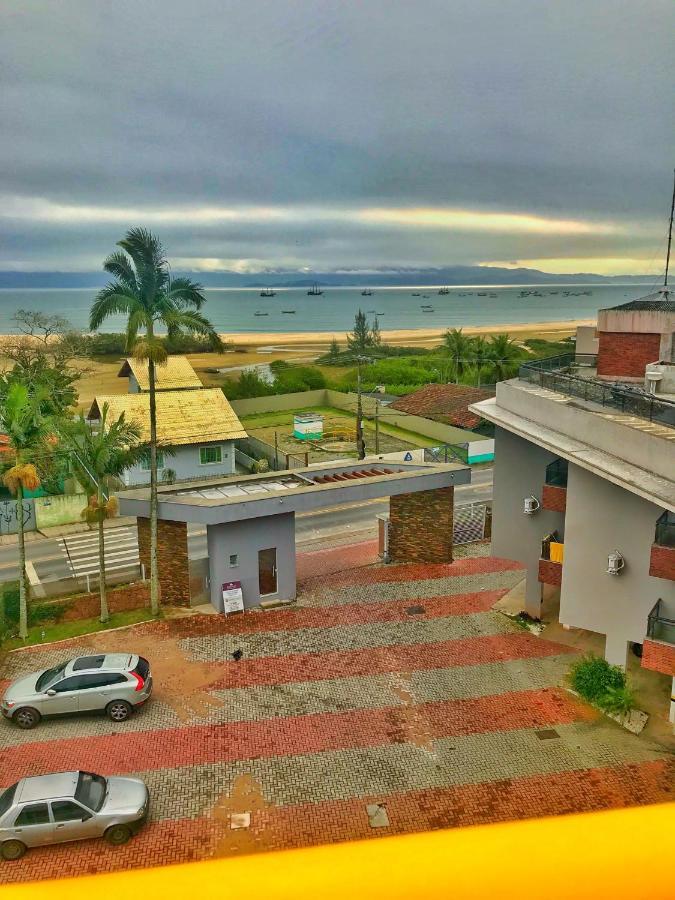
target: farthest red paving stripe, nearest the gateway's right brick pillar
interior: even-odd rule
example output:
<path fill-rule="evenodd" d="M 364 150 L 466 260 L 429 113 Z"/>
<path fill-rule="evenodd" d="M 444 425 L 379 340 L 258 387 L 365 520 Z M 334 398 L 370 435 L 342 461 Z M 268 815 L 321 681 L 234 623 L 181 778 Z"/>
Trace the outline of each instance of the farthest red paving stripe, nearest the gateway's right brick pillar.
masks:
<path fill-rule="evenodd" d="M 486 575 L 491 572 L 524 570 L 522 563 L 497 556 L 474 556 L 453 563 L 408 563 L 381 565 L 367 569 L 340 571 L 335 574 L 308 579 L 303 588 L 334 588 L 348 584 L 379 584 L 392 581 L 420 581 L 427 578 L 455 578 L 460 575 Z"/>

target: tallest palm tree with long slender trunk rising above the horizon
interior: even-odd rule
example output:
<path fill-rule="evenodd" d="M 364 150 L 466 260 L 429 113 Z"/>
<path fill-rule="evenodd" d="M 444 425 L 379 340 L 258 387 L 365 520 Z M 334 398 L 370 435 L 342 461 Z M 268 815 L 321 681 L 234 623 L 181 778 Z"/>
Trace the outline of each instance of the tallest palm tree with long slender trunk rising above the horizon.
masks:
<path fill-rule="evenodd" d="M 96 331 L 114 315 L 127 317 L 126 346 L 136 359 L 147 360 L 150 386 L 150 606 L 159 613 L 157 572 L 157 407 L 155 369 L 166 362 L 164 341 L 155 328 L 166 329 L 168 338 L 189 332 L 217 334 L 200 312 L 206 302 L 203 287 L 189 278 L 171 278 L 169 264 L 158 238 L 144 228 L 132 228 L 121 241 L 121 249 L 103 263 L 113 276 L 96 296 L 89 327 Z M 139 337 L 139 332 L 144 334 Z"/>

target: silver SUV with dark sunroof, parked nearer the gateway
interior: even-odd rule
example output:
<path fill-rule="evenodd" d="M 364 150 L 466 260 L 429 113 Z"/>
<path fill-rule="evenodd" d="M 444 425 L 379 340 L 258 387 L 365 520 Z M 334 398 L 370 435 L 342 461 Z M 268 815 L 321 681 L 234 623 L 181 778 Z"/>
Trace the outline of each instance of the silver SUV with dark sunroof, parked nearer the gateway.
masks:
<path fill-rule="evenodd" d="M 35 728 L 42 716 L 107 713 L 124 722 L 152 693 L 150 664 L 130 653 L 79 656 L 12 682 L 2 698 L 2 714 L 19 728 Z"/>

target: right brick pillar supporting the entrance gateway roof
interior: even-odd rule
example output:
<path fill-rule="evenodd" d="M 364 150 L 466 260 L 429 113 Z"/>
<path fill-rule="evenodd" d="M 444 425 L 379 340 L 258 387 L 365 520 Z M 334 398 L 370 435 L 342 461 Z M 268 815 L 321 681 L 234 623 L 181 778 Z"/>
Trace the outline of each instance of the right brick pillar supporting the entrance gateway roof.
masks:
<path fill-rule="evenodd" d="M 389 500 L 389 556 L 393 562 L 452 562 L 455 489 L 399 494 Z"/>

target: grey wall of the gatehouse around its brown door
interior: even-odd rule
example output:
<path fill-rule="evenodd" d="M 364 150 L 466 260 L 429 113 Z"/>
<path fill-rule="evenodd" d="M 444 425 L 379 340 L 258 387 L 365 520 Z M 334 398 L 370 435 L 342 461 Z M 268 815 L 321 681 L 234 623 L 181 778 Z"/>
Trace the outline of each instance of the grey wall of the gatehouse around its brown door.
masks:
<path fill-rule="evenodd" d="M 209 554 L 211 603 L 222 612 L 222 585 L 241 581 L 244 606 L 250 609 L 260 603 L 258 587 L 258 551 L 277 548 L 277 593 L 265 599 L 291 600 L 295 597 L 295 515 L 276 516 L 209 525 L 206 530 Z M 236 554 L 237 565 L 230 566 Z"/>

